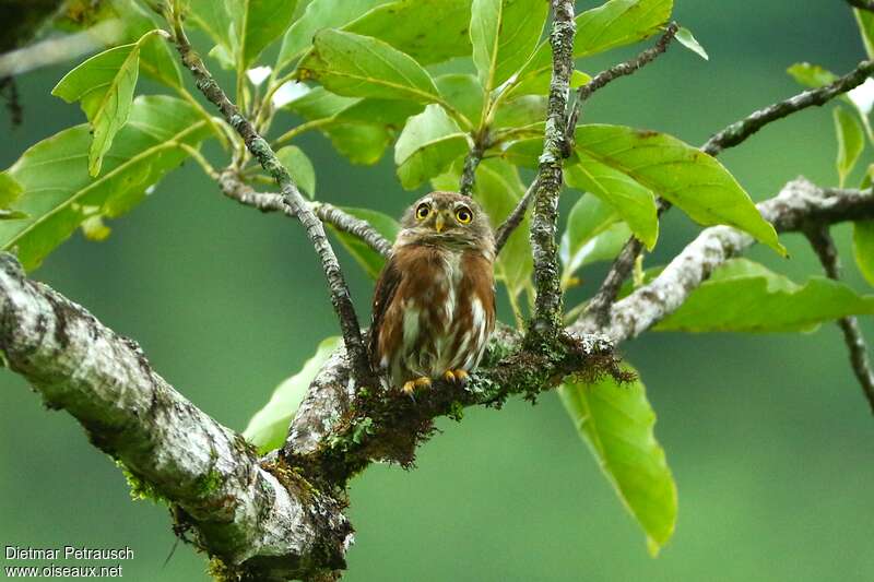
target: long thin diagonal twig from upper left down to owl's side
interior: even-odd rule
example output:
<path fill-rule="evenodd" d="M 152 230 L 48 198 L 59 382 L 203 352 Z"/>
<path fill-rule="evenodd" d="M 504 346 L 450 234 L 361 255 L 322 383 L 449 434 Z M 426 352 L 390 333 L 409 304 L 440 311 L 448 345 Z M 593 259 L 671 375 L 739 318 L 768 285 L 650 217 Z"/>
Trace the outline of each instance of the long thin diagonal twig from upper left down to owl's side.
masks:
<path fill-rule="evenodd" d="M 362 340 L 355 306 L 350 298 L 349 286 L 343 277 L 340 263 L 331 248 L 331 244 L 328 241 L 324 226 L 307 205 L 304 197 L 292 180 L 288 170 L 285 169 L 276 158 L 270 144 L 258 134 L 248 119 L 246 119 L 231 99 L 228 99 L 225 92 L 222 91 L 222 87 L 218 86 L 210 74 L 203 61 L 193 51 L 182 27 L 181 15 L 179 13 L 174 13 L 174 16 L 173 26 L 176 47 L 182 58 L 182 63 L 191 71 L 201 93 L 222 111 L 227 122 L 231 123 L 243 138 L 249 152 L 258 159 L 268 174 L 276 180 L 283 201 L 304 225 L 307 236 L 321 260 L 322 270 L 328 280 L 331 304 L 333 304 L 334 311 L 340 320 L 340 329 L 343 333 L 343 341 L 352 360 L 355 379 L 358 381 L 358 385 L 375 385 L 375 375 L 370 369 L 367 348 Z"/>

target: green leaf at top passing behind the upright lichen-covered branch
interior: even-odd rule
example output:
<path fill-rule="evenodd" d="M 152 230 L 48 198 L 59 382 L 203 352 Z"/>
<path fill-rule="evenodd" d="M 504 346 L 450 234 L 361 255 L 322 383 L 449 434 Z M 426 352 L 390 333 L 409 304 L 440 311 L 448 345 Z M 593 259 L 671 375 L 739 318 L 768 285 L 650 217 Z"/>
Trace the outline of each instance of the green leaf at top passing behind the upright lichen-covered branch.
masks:
<path fill-rule="evenodd" d="M 577 35 L 574 40 L 574 58 L 590 57 L 612 48 L 617 48 L 661 32 L 671 17 L 673 0 L 610 0 L 604 4 L 587 10 L 577 16 Z M 552 71 L 550 44 L 544 41 L 522 68 L 513 88 L 513 94 L 543 93 L 533 91 L 528 83 L 540 79 L 548 83 Z M 525 86 L 525 91 L 522 91 Z M 548 86 L 548 85 L 547 85 Z"/>

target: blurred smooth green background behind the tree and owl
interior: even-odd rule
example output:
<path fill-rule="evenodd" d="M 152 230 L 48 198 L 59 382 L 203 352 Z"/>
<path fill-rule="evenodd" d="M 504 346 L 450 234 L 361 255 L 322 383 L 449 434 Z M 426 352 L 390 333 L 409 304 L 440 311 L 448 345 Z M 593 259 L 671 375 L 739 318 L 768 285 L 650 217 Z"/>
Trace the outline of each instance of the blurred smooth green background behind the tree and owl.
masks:
<path fill-rule="evenodd" d="M 863 58 L 852 15 L 837 0 L 676 3 L 676 19 L 710 61 L 676 46 L 600 92 L 587 121 L 699 144 L 798 92 L 784 74 L 791 63 L 845 72 Z M 634 51 L 580 66 L 595 72 Z M 49 95 L 67 69 L 19 80 L 25 121 L 12 128 L 0 116 L 0 167 L 82 120 L 75 106 Z M 398 214 L 416 195 L 400 188 L 390 153 L 362 168 L 321 136 L 300 143 L 324 200 Z M 722 161 L 760 200 L 799 174 L 835 183 L 835 149 L 831 116 L 814 109 Z M 864 155 L 872 159 L 870 150 Z M 336 333 L 303 230 L 223 199 L 192 164 L 111 226 L 103 244 L 76 235 L 34 276 L 137 338 L 167 380 L 229 427 L 241 430 L 275 384 Z M 669 259 L 697 230 L 671 213 L 648 264 Z M 848 280 L 863 288 L 848 228 L 836 236 Z M 819 273 L 799 237 L 783 241 L 789 261 L 763 249 L 752 256 L 796 281 Z M 370 282 L 341 259 L 365 317 Z M 583 290 L 603 271 L 584 273 Z M 648 334 L 622 351 L 649 388 L 680 489 L 676 535 L 660 558 L 648 557 L 557 397 L 546 394 L 535 407 L 511 402 L 500 412 L 469 411 L 461 424 L 440 421 L 444 432 L 421 449 L 415 471 L 374 466 L 357 477 L 346 579 L 874 579 L 874 419 L 834 325 L 808 335 Z M 188 547 L 162 566 L 174 544 L 169 523 L 164 507 L 129 499 L 120 472 L 68 415 L 46 412 L 25 382 L 0 372 L 0 545 L 128 545 L 135 553 L 123 565 L 128 580 L 205 580 L 203 558 Z"/>

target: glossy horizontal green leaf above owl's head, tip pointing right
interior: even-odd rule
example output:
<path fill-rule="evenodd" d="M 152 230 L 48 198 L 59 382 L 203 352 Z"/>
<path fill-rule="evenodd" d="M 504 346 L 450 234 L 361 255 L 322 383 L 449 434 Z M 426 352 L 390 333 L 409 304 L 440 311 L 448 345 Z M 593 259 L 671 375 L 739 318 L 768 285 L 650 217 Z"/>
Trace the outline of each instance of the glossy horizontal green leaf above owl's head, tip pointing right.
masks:
<path fill-rule="evenodd" d="M 341 31 L 316 34 L 314 50 L 298 66 L 299 79 L 316 79 L 347 97 L 440 100 L 425 69 L 381 40 Z"/>

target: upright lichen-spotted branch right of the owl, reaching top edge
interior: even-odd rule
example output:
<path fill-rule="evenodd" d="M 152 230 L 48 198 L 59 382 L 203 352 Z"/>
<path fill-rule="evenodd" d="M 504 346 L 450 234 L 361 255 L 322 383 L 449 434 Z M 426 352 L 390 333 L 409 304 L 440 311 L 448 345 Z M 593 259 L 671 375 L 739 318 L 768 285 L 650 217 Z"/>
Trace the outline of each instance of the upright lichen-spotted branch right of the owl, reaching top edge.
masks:
<path fill-rule="evenodd" d="M 574 72 L 574 37 L 577 25 L 571 0 L 552 0 L 553 29 L 550 45 L 553 73 L 543 155 L 538 171 L 534 212 L 531 219 L 531 249 L 534 256 L 534 312 L 528 344 L 541 345 L 554 337 L 562 326 L 562 288 L 558 280 L 557 245 L 558 197 L 562 192 L 562 166 L 569 155 L 567 143 L 567 98 Z"/>

